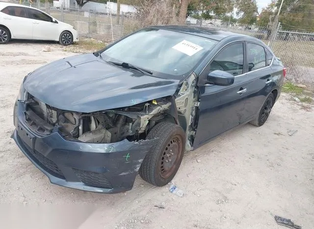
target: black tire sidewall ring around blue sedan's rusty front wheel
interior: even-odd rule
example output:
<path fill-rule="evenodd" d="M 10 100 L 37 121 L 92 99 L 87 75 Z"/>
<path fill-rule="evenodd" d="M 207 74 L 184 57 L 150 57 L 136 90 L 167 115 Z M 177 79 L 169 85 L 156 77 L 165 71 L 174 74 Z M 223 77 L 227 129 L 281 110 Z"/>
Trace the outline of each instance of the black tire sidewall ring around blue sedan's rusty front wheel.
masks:
<path fill-rule="evenodd" d="M 155 165 L 154 178 L 155 178 L 155 181 L 156 181 L 158 186 L 163 186 L 163 185 L 166 185 L 167 183 L 169 183 L 174 178 L 174 176 L 176 175 L 176 173 L 178 172 L 178 170 L 180 168 L 181 162 L 183 160 L 183 154 L 184 154 L 184 148 L 185 148 L 185 133 L 180 128 L 181 127 L 177 127 L 175 129 L 173 129 L 170 132 L 169 136 L 167 137 L 166 141 L 163 142 L 161 150 L 159 150 L 159 152 L 155 152 L 155 153 L 158 153 L 158 157 L 157 157 L 157 163 Z M 180 141 L 181 141 L 181 144 L 182 144 L 181 145 L 182 146 L 182 151 L 181 151 L 178 163 L 174 165 L 174 166 L 176 166 L 175 170 L 172 172 L 172 174 L 167 179 L 164 179 L 161 176 L 161 173 L 160 173 L 160 169 L 161 169 L 160 168 L 160 161 L 161 161 L 161 158 L 163 157 L 163 152 L 165 151 L 165 148 L 167 147 L 167 144 L 169 143 L 169 141 L 174 136 L 180 136 Z"/>

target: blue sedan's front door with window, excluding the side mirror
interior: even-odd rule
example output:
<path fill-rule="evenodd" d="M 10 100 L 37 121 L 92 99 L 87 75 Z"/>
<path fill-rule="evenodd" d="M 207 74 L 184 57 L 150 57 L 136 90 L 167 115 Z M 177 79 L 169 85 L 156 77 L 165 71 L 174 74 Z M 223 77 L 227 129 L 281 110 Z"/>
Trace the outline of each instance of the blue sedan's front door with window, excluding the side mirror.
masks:
<path fill-rule="evenodd" d="M 229 72 L 235 76 L 231 86 L 199 85 L 199 119 L 193 146 L 206 143 L 219 134 L 239 125 L 245 113 L 247 102 L 247 77 L 244 42 L 232 43 L 211 60 L 200 77 L 207 78 L 214 70 Z"/>

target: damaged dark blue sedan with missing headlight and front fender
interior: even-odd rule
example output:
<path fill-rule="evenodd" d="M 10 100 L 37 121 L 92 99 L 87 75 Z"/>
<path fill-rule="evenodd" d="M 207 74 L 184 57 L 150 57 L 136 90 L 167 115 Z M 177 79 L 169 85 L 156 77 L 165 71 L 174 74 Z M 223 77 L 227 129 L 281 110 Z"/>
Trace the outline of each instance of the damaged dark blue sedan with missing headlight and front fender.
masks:
<path fill-rule="evenodd" d="M 141 29 L 29 73 L 12 138 L 53 184 L 131 190 L 173 179 L 183 153 L 240 124 L 262 126 L 286 69 L 262 41 L 187 26 Z"/>

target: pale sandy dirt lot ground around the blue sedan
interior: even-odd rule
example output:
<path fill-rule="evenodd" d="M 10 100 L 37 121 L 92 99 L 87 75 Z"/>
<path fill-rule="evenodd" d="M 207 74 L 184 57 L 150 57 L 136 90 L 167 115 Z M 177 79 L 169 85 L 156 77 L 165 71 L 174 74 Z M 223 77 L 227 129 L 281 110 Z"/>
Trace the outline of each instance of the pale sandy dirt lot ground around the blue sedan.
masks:
<path fill-rule="evenodd" d="M 174 179 L 184 191 L 182 198 L 140 177 L 130 192 L 117 195 L 50 184 L 10 139 L 13 104 L 23 77 L 52 60 L 73 55 L 55 44 L 49 44 L 51 52 L 43 52 L 44 45 L 0 46 L 1 204 L 86 210 L 76 219 L 66 217 L 67 226 L 61 218 L 37 219 L 38 228 L 45 229 L 283 228 L 275 223 L 274 215 L 290 218 L 305 229 L 314 228 L 313 107 L 304 109 L 288 94 L 281 95 L 264 126 L 238 127 L 186 153 Z M 292 129 L 298 131 L 289 136 L 287 131 Z M 64 216 L 64 211 L 59 213 Z M 2 218 L 1 222 L 9 221 Z M 21 225 L 30 228 L 28 222 Z"/>

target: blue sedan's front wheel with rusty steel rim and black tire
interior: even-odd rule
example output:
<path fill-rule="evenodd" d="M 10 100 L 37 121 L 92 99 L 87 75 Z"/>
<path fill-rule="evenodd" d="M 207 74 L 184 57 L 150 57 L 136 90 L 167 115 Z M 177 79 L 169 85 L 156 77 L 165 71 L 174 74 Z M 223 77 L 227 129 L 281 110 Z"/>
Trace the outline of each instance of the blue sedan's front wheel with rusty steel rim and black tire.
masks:
<path fill-rule="evenodd" d="M 155 147 L 145 156 L 138 172 L 143 180 L 164 186 L 173 179 L 181 165 L 185 133 L 179 125 L 160 122 L 147 135 L 147 139 L 156 138 Z"/>

